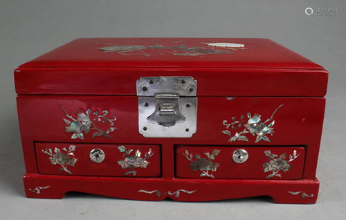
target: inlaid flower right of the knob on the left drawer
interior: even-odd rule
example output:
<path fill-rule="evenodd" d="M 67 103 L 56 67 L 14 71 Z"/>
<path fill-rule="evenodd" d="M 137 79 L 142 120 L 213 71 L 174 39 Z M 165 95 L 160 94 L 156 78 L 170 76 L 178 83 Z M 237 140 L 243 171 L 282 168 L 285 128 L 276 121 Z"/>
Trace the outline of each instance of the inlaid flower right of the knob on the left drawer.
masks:
<path fill-rule="evenodd" d="M 130 156 L 131 152 L 133 152 L 133 149 L 129 149 L 127 151 L 126 147 L 121 145 L 118 147 L 120 152 L 124 153 L 122 157 L 127 156 L 124 160 L 118 161 L 118 164 L 121 166 L 122 169 L 130 169 L 129 172 L 126 172 L 124 175 L 127 174 L 133 174 L 136 176 L 136 171 L 134 171 L 135 168 L 147 168 L 147 165 L 149 165 L 149 162 L 147 161 L 148 158 L 154 155 L 154 152 L 152 152 L 152 149 L 149 149 L 149 152 L 145 153 L 145 158 L 140 157 L 140 151 L 137 149 L 134 156 Z"/>

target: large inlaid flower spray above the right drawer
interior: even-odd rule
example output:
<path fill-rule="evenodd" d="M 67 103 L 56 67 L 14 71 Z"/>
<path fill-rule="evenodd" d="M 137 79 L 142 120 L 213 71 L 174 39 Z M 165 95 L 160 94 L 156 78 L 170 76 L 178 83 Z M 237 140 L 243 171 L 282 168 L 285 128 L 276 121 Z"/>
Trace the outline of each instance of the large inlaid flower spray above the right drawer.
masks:
<path fill-rule="evenodd" d="M 284 104 L 280 105 L 280 107 L 282 107 L 283 105 Z M 237 130 L 238 128 L 242 127 L 242 125 L 244 125 L 245 129 L 244 131 L 235 133 L 234 136 L 232 136 L 232 134 L 228 130 L 222 131 L 222 133 L 230 136 L 230 140 L 228 140 L 230 143 L 232 143 L 233 141 L 235 142 L 235 140 L 243 140 L 248 142 L 248 138 L 243 135 L 248 133 L 252 134 L 253 136 L 256 135 L 255 143 L 259 142 L 260 140 L 271 142 L 271 140 L 266 135 L 270 134 L 271 136 L 273 136 L 273 125 L 275 122 L 275 120 L 273 120 L 273 117 L 275 112 L 280 109 L 280 107 L 277 107 L 277 109 L 275 109 L 274 113 L 271 115 L 271 118 L 268 118 L 264 122 L 262 122 L 261 116 L 258 113 L 255 113 L 253 116 L 251 116 L 250 112 L 248 112 L 247 114 L 247 122 L 246 120 L 244 120 L 244 116 L 240 116 L 239 121 L 235 120 L 235 117 L 233 117 L 233 122 L 230 124 L 228 124 L 227 120 L 224 120 L 223 124 L 226 126 L 226 129 L 231 126 L 232 129 Z"/>

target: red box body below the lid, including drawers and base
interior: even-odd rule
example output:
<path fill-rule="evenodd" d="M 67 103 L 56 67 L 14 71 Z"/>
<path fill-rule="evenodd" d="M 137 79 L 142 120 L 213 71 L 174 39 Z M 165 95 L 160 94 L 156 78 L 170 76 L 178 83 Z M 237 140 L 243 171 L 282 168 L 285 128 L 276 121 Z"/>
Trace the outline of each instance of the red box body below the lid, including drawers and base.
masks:
<path fill-rule="evenodd" d="M 267 194 L 280 203 L 316 201 L 325 98 L 197 97 L 197 129 L 183 138 L 170 137 L 174 125 L 160 125 L 166 138 L 143 135 L 150 127 L 138 123 L 138 100 L 19 95 L 27 196 L 79 191 L 208 201 Z M 172 111 L 166 101 L 159 109 L 165 116 Z M 246 193 L 227 191 L 232 185 Z"/>

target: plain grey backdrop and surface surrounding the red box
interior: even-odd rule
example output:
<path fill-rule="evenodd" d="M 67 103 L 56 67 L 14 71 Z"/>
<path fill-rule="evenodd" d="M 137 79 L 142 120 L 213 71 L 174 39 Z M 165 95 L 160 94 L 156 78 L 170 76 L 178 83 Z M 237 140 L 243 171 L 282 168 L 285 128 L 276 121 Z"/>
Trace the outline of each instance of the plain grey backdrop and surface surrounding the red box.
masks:
<path fill-rule="evenodd" d="M 339 15 L 308 16 L 307 7 L 339 8 Z M 80 37 L 263 37 L 324 66 L 330 75 L 317 203 L 143 202 L 81 193 L 27 199 L 13 70 Z M 0 0 L 0 219 L 346 219 L 345 51 L 343 0 Z"/>

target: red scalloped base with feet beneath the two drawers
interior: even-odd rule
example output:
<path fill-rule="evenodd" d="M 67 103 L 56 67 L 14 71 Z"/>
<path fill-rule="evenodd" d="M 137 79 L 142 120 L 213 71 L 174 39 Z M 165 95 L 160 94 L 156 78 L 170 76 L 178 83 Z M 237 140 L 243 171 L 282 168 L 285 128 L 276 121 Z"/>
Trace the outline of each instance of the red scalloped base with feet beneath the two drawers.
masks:
<path fill-rule="evenodd" d="M 215 201 L 271 196 L 275 203 L 316 203 L 320 183 L 315 180 L 275 181 L 239 179 L 113 178 L 26 174 L 26 196 L 62 199 L 66 192 L 86 192 L 120 199 Z"/>

